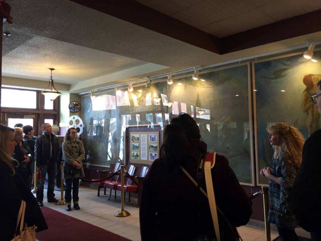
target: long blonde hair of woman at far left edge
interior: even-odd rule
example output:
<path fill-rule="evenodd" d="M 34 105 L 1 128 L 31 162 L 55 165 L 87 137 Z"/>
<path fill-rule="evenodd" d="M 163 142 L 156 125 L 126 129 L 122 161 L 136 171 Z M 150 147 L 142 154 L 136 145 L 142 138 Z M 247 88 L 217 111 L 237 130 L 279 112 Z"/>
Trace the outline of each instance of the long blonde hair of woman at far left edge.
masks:
<path fill-rule="evenodd" d="M 10 152 L 7 150 L 10 131 L 14 133 L 14 129 L 0 124 L 0 160 L 9 166 L 9 168 L 12 170 L 13 176 L 15 174 L 14 163 L 18 164 L 18 162 L 13 159 Z"/>

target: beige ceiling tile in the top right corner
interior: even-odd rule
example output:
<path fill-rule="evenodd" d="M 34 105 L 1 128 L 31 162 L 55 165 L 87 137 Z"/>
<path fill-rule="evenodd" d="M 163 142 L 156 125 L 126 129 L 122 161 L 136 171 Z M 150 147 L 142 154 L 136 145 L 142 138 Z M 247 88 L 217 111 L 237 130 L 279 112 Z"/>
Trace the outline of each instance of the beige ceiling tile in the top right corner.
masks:
<path fill-rule="evenodd" d="M 277 21 L 321 9 L 320 0 L 280 0 L 260 7 Z"/>

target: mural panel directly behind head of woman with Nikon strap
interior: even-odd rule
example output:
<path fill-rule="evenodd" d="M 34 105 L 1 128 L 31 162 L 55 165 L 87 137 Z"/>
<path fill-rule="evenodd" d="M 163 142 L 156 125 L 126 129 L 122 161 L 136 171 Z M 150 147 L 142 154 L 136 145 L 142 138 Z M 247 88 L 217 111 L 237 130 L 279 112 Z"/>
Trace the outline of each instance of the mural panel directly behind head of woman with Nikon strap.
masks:
<path fill-rule="evenodd" d="M 207 151 L 228 158 L 239 182 L 251 185 L 248 65 L 212 70 L 199 76 L 205 81 L 195 81 L 191 76 L 175 79 L 169 86 L 169 100 L 186 104 L 190 115 L 194 110 Z M 179 81 L 182 85 L 175 85 Z M 197 107 L 207 111 L 201 116 Z"/>

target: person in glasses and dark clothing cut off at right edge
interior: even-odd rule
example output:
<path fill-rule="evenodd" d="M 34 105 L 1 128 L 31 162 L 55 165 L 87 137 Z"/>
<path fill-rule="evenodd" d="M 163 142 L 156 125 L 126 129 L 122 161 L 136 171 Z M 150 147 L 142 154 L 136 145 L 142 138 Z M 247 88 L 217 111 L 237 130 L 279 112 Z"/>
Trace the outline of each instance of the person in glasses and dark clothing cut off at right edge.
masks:
<path fill-rule="evenodd" d="M 321 81 L 312 96 L 321 114 Z M 302 163 L 294 180 L 291 205 L 299 225 L 310 232 L 311 240 L 321 240 L 321 129 L 313 132 L 304 143 Z"/>

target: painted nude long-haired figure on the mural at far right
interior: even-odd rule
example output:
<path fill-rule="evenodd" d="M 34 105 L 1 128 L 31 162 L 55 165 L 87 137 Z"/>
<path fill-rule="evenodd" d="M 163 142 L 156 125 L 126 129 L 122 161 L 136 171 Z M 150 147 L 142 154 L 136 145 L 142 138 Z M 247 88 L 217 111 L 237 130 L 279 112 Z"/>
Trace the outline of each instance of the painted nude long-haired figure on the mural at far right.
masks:
<path fill-rule="evenodd" d="M 305 75 L 303 77 L 303 84 L 307 87 L 302 94 L 302 111 L 307 113 L 307 120 L 305 125 L 308 128 L 308 135 L 311 135 L 312 132 L 320 129 L 319 119 L 320 113 L 316 105 L 312 102 L 311 96 L 316 92 L 317 83 L 319 78 L 316 75 Z"/>

